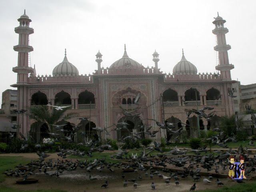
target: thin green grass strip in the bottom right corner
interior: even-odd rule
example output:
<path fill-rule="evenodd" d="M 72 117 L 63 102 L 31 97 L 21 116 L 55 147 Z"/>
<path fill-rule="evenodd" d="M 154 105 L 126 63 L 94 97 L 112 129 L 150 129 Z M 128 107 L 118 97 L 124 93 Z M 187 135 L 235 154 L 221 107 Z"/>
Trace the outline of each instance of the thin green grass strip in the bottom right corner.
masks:
<path fill-rule="evenodd" d="M 254 192 L 256 188 L 256 182 L 236 184 L 234 186 L 222 186 L 219 189 L 214 190 L 198 190 L 198 192 Z"/>

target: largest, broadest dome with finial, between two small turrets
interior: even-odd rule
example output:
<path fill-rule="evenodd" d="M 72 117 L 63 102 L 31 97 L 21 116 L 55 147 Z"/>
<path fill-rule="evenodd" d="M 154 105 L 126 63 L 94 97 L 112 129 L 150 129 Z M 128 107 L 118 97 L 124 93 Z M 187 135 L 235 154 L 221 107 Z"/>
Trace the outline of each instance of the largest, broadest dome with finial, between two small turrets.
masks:
<path fill-rule="evenodd" d="M 110 69 L 145 69 L 142 64 L 134 61 L 133 59 L 129 58 L 126 52 L 126 46 L 124 44 L 124 55 L 122 58 L 114 62 L 110 67 Z"/>

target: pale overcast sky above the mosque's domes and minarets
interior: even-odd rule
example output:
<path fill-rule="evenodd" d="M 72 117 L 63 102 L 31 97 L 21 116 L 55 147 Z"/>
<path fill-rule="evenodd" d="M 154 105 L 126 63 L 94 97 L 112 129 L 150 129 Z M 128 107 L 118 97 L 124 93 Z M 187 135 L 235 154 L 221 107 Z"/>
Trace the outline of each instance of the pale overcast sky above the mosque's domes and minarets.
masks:
<path fill-rule="evenodd" d="M 62 62 L 67 49 L 69 62 L 79 74 L 92 74 L 98 50 L 102 66 L 120 59 L 126 44 L 127 54 L 143 66 L 154 66 L 154 50 L 160 54 L 158 67 L 172 74 L 182 57 L 192 62 L 198 72 L 216 72 L 214 17 L 226 20 L 226 34 L 232 79 L 241 84 L 256 83 L 256 2 L 254 0 L 6 0 L 1 1 L 0 92 L 15 84 L 19 26 L 24 13 L 32 20 L 30 27 L 31 65 L 37 75 L 52 74 Z M 2 94 L 0 101 L 2 103 Z"/>

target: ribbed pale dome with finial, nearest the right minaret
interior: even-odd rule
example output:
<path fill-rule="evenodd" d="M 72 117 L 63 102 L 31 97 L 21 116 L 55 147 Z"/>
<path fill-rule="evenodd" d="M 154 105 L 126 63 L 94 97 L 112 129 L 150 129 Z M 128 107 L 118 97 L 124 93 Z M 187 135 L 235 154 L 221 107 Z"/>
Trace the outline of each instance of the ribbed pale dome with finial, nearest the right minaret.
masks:
<path fill-rule="evenodd" d="M 184 56 L 184 52 L 182 49 L 182 58 L 180 60 L 180 62 L 178 62 L 173 70 L 172 70 L 173 74 L 197 74 L 197 69 L 196 66 L 194 66 L 194 64 L 192 64 L 191 62 L 189 62 L 188 60 L 186 60 L 185 56 Z"/>

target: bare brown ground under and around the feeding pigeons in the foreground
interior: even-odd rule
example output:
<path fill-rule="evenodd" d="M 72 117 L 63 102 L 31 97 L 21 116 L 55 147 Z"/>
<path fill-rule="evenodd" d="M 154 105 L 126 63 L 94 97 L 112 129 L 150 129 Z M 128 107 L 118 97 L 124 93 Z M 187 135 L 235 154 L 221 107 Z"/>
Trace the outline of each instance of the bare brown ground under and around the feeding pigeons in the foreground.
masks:
<path fill-rule="evenodd" d="M 24 156 L 31 160 L 36 160 L 38 156 L 34 153 L 20 153 L 20 154 L 0 154 L 0 156 Z M 53 160 L 57 160 L 58 156 L 57 154 L 50 154 L 50 157 Z M 47 159 L 46 159 L 47 160 Z M 196 190 L 202 190 L 202 189 L 216 189 L 221 188 L 218 187 L 216 184 L 216 178 L 211 183 L 204 183 L 202 182 L 202 179 L 198 182 L 194 182 L 194 180 L 188 176 L 185 179 L 180 179 L 180 184 L 176 186 L 174 184 L 174 180 L 171 179 L 170 185 L 166 185 L 164 182 L 165 180 L 162 178 L 159 178 L 158 176 L 154 175 L 153 180 L 150 179 L 150 177 L 146 177 L 144 175 L 144 172 L 138 172 L 138 173 L 124 173 L 126 176 L 126 179 L 130 180 L 135 177 L 138 177 L 140 174 L 142 176 L 142 180 L 138 180 L 138 187 L 134 188 L 133 183 L 129 182 L 127 187 L 123 187 L 124 179 L 121 178 L 122 170 L 119 168 L 114 168 L 115 172 L 112 173 L 109 170 L 103 170 L 102 172 L 98 172 L 97 170 L 92 170 L 92 172 L 88 173 L 85 169 L 77 168 L 75 171 L 65 171 L 62 174 L 60 174 L 59 178 L 56 178 L 55 176 L 47 176 L 43 173 L 40 173 L 38 175 L 30 176 L 39 179 L 38 183 L 35 184 L 26 184 L 26 185 L 20 185 L 16 184 L 17 178 L 10 177 L 7 178 L 4 182 L 2 182 L 3 185 L 16 188 L 17 190 L 32 190 L 32 189 L 60 189 L 60 190 L 66 190 L 68 192 L 133 192 L 133 191 L 140 191 L 140 192 L 152 192 L 152 189 L 150 187 L 150 184 L 154 182 L 156 186 L 157 191 L 161 192 L 170 192 L 172 190 L 175 190 L 175 192 L 187 192 L 190 191 L 190 187 L 196 183 Z M 227 171 L 228 173 L 228 171 Z M 92 175 L 93 177 L 97 177 L 97 180 L 89 180 L 89 175 Z M 167 173 L 162 173 L 166 176 L 168 176 Z M 247 177 L 248 179 L 244 179 L 244 182 L 251 182 L 250 177 Z M 108 188 L 101 188 L 101 185 L 105 183 L 105 181 L 108 180 L 109 186 Z M 220 179 L 221 182 L 224 183 L 224 186 L 231 186 L 234 184 L 237 184 L 236 181 L 228 179 L 228 178 L 222 178 Z"/>

